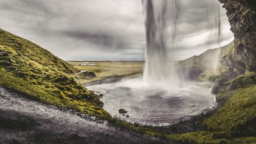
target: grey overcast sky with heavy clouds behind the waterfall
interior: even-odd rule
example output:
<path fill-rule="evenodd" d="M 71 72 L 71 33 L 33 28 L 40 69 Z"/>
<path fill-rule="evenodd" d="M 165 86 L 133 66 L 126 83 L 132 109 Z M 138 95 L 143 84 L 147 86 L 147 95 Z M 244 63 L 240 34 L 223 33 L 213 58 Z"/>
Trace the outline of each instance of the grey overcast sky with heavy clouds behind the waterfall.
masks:
<path fill-rule="evenodd" d="M 220 45 L 212 1 L 180 0 L 179 43 L 170 49 L 177 60 Z M 64 60 L 144 60 L 141 0 L 0 0 L 0 10 L 0 28 Z M 232 38 L 221 8 L 221 45 Z"/>

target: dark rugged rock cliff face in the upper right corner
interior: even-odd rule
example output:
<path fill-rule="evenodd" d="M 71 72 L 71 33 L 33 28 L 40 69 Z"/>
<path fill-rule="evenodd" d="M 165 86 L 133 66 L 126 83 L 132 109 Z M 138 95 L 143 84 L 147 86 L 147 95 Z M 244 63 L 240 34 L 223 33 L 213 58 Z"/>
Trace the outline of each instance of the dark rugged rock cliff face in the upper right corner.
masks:
<path fill-rule="evenodd" d="M 243 74 L 256 71 L 256 3 L 253 0 L 219 0 L 227 10 L 234 47 L 228 52 L 225 62 L 230 72 Z"/>

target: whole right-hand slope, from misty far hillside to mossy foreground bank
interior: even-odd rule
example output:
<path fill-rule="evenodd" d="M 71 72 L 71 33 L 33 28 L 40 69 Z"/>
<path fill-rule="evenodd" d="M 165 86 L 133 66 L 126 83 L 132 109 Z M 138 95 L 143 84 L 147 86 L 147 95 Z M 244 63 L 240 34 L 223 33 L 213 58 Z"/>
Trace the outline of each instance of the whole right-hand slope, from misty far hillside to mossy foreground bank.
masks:
<path fill-rule="evenodd" d="M 256 143 L 256 72 L 232 74 L 236 65 L 227 65 L 227 55 L 236 45 L 209 49 L 199 56 L 180 61 L 189 79 L 213 81 L 212 93 L 219 108 L 196 125 L 204 131 L 166 136 L 179 143 Z"/>

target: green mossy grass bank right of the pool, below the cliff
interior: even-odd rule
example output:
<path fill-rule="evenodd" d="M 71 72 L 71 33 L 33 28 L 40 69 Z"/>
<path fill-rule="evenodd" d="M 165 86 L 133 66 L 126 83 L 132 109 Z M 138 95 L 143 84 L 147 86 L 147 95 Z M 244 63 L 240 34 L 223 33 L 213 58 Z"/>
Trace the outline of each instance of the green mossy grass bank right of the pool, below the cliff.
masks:
<path fill-rule="evenodd" d="M 216 98 L 224 104 L 202 122 L 205 131 L 167 135 L 166 138 L 180 143 L 256 143 L 255 75 L 255 72 L 247 72 L 220 86 Z"/>

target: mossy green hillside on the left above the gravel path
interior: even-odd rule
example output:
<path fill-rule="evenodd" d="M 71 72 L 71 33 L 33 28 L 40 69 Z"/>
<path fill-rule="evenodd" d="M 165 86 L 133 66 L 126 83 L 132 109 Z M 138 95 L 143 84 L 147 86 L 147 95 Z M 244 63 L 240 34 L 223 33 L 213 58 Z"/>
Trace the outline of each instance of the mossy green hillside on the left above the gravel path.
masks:
<path fill-rule="evenodd" d="M 0 86 L 49 104 L 109 116 L 99 96 L 71 77 L 77 72 L 51 52 L 0 29 Z"/>

